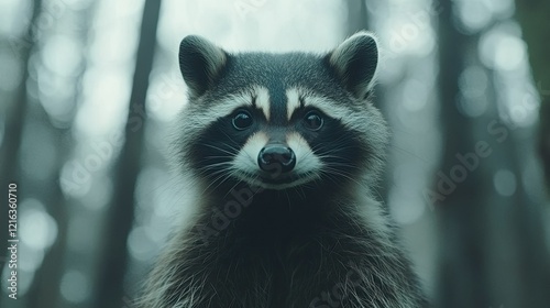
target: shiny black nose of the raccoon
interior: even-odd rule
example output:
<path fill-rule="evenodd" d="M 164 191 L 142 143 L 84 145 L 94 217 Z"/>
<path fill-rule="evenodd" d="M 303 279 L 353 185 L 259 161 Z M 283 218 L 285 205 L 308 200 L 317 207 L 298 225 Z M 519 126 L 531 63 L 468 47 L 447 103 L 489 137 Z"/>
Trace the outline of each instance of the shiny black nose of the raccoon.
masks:
<path fill-rule="evenodd" d="M 288 146 L 272 144 L 260 151 L 257 164 L 262 170 L 277 176 L 278 173 L 288 173 L 296 166 L 296 155 Z"/>

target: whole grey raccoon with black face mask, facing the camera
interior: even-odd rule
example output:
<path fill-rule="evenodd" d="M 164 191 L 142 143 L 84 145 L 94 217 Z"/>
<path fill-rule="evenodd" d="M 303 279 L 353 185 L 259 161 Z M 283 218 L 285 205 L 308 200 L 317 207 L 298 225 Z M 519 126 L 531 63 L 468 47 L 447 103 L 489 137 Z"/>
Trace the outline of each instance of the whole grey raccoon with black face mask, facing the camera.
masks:
<path fill-rule="evenodd" d="M 173 143 L 198 194 L 142 298 L 150 308 L 427 307 L 376 200 L 388 130 L 375 36 L 326 54 L 231 54 L 187 36 Z"/>

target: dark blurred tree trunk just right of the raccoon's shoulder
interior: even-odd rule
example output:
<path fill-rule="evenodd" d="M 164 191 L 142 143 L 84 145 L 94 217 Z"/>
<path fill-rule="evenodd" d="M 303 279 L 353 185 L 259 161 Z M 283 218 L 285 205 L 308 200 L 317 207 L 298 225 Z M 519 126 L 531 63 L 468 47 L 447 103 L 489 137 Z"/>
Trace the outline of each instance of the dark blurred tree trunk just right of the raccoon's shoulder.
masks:
<path fill-rule="evenodd" d="M 469 37 L 454 28 L 451 0 L 440 0 L 439 54 L 440 101 L 443 135 L 443 173 L 453 167 L 454 154 L 472 148 L 471 119 L 457 110 L 459 77 L 464 66 Z M 471 43 L 470 43 L 471 44 Z M 436 185 L 437 187 L 438 185 Z M 436 193 L 441 194 L 441 189 Z M 439 282 L 436 283 L 436 307 L 490 307 L 486 267 L 483 257 L 483 201 L 480 178 L 470 175 L 446 196 L 437 209 L 440 213 Z"/>

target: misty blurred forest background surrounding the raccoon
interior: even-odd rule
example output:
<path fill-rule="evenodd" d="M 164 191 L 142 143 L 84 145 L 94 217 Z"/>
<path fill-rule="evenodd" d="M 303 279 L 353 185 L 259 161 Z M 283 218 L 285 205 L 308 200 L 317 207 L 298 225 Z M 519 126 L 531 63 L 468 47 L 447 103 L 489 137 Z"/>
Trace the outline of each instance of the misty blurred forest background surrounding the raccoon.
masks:
<path fill-rule="evenodd" d="M 392 130 L 378 197 L 433 307 L 550 307 L 549 16 L 544 0 L 1 1 L 0 307 L 132 307 L 186 210 L 166 163 L 184 36 L 324 52 L 360 30 Z"/>

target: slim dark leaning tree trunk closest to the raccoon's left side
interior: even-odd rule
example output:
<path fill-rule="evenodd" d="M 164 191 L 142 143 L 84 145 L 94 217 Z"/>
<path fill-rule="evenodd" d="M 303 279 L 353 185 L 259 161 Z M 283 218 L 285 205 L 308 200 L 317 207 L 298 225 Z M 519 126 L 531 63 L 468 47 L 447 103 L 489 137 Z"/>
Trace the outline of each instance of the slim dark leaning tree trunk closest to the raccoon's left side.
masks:
<path fill-rule="evenodd" d="M 120 308 L 125 300 L 123 284 L 128 264 L 128 235 L 134 218 L 135 183 L 141 166 L 145 123 L 145 98 L 156 47 L 160 0 L 146 0 L 143 8 L 140 43 L 128 113 L 125 142 L 116 174 L 114 196 L 109 208 L 105 246 L 99 263 L 95 306 Z"/>

